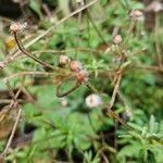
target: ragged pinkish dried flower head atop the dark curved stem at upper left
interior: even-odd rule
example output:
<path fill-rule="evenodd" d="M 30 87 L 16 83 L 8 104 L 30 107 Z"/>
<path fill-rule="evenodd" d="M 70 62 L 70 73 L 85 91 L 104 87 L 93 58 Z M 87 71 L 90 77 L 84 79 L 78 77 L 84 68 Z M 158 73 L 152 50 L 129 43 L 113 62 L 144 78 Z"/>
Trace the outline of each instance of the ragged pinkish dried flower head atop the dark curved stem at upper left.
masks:
<path fill-rule="evenodd" d="M 21 24 L 20 22 L 12 22 L 10 25 L 10 30 L 11 33 L 17 33 L 17 32 L 22 32 L 26 27 L 27 27 L 26 22 L 23 24 Z"/>

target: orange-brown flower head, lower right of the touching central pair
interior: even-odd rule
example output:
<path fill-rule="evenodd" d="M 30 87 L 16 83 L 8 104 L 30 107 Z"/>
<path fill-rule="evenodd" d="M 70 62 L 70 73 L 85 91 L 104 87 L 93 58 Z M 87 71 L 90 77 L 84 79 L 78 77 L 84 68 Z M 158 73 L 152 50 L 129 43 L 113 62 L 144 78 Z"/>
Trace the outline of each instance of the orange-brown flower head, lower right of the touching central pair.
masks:
<path fill-rule="evenodd" d="M 76 73 L 76 78 L 77 78 L 78 84 L 87 83 L 89 79 L 88 76 L 89 76 L 89 73 L 87 72 L 87 70 L 82 70 Z"/>

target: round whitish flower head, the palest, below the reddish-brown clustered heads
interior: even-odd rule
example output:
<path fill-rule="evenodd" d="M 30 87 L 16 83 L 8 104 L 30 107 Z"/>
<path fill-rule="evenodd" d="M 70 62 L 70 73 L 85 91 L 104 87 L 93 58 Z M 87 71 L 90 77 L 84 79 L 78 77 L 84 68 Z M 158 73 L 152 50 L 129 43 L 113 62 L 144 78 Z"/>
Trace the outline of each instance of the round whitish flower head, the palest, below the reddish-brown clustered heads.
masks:
<path fill-rule="evenodd" d="M 89 108 L 95 108 L 102 104 L 102 99 L 100 96 L 92 93 L 86 98 L 86 104 Z"/>

